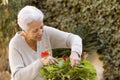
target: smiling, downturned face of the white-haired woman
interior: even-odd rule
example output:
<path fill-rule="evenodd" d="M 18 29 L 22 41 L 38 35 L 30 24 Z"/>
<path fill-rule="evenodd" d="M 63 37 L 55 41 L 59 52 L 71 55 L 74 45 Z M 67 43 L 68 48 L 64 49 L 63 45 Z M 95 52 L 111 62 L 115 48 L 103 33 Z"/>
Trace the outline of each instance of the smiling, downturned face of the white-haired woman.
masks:
<path fill-rule="evenodd" d="M 37 20 L 28 24 L 27 37 L 34 41 L 40 41 L 43 35 L 43 21 Z"/>

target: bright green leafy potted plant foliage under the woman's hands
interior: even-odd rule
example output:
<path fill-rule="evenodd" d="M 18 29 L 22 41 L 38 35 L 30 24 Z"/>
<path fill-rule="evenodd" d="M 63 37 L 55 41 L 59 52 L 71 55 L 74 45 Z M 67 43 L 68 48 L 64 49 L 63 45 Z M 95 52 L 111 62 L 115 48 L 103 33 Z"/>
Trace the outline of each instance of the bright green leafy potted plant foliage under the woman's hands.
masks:
<path fill-rule="evenodd" d="M 86 60 L 71 68 L 69 59 L 59 58 L 58 63 L 42 67 L 40 75 L 45 80 L 97 80 L 95 68 Z"/>

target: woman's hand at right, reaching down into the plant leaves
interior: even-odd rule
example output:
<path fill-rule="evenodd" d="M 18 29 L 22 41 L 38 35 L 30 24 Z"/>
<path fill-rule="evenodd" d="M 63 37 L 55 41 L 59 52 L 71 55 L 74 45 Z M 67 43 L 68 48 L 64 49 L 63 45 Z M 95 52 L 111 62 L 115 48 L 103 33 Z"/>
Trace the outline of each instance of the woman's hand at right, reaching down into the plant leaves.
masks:
<path fill-rule="evenodd" d="M 76 64 L 79 64 L 80 61 L 81 61 L 81 58 L 79 54 L 73 51 L 70 55 L 71 67 L 74 67 Z"/>

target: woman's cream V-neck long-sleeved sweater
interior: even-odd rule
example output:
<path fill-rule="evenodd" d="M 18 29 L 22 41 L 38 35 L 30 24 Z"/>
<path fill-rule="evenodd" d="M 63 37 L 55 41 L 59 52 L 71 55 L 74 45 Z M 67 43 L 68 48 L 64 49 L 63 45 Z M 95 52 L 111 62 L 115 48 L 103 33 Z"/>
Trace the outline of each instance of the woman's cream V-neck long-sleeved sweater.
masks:
<path fill-rule="evenodd" d="M 82 40 L 72 33 L 60 31 L 58 29 L 44 26 L 43 37 L 37 42 L 35 52 L 28 46 L 23 36 L 17 32 L 9 44 L 9 63 L 12 80 L 43 80 L 39 76 L 40 53 L 45 50 L 45 46 L 50 49 L 71 48 L 71 51 L 82 53 Z"/>

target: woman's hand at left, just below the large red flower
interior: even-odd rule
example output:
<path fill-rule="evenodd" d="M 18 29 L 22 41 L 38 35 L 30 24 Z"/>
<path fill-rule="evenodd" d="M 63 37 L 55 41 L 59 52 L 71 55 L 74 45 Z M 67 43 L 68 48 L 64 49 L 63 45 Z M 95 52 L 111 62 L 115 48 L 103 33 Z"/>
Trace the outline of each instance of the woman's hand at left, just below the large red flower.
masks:
<path fill-rule="evenodd" d="M 49 64 L 54 64 L 54 63 L 58 63 L 57 59 L 52 57 L 52 56 L 48 56 L 46 58 L 42 58 L 41 62 L 44 66 L 49 65 Z"/>

